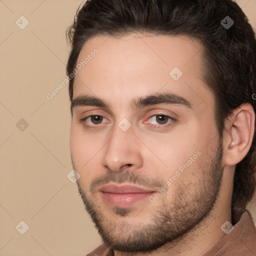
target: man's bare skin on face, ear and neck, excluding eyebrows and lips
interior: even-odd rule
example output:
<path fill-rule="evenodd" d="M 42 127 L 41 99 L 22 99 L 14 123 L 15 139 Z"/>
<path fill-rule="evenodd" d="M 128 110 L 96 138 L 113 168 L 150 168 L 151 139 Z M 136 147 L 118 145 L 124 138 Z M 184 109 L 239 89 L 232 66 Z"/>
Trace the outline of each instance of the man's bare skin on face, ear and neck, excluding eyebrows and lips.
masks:
<path fill-rule="evenodd" d="M 202 46 L 186 36 L 96 35 L 85 42 L 77 63 L 94 48 L 99 52 L 75 74 L 73 99 L 97 96 L 110 107 L 74 107 L 70 128 L 72 164 L 87 212 L 114 255 L 203 255 L 225 235 L 220 226 L 231 222 L 234 166 L 254 132 L 251 105 L 233 111 L 220 138 L 214 96 L 201 78 Z M 169 75 L 175 66 L 183 73 L 176 81 Z M 133 98 L 157 92 L 178 94 L 192 108 L 130 107 Z M 81 121 L 93 114 L 103 118 Z M 131 124 L 126 131 L 118 126 L 123 118 Z M 197 151 L 200 156 L 154 202 L 114 207 L 99 194 L 108 182 L 157 191 Z"/>

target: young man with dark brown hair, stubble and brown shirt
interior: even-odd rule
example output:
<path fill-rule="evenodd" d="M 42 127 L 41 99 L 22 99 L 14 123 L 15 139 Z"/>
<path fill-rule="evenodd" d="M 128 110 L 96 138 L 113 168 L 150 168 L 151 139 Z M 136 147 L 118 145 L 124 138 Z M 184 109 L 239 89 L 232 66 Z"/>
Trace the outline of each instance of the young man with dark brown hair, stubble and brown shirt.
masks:
<path fill-rule="evenodd" d="M 256 40 L 231 0 L 89 0 L 67 30 L 88 255 L 256 255 Z"/>

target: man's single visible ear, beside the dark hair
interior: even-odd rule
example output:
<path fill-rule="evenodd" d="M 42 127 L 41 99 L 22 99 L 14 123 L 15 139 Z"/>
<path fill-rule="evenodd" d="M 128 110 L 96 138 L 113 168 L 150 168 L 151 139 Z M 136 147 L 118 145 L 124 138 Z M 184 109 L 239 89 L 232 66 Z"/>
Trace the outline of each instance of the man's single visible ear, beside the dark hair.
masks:
<path fill-rule="evenodd" d="M 223 131 L 223 160 L 225 165 L 235 165 L 249 151 L 254 135 L 255 113 L 249 103 L 235 108 L 225 120 Z"/>

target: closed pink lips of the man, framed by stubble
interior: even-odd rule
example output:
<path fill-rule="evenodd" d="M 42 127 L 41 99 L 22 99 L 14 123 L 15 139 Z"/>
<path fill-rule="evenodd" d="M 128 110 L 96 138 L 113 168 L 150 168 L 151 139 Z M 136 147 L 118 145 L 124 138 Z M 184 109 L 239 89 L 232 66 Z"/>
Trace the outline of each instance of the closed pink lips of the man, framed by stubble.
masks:
<path fill-rule="evenodd" d="M 128 207 L 137 201 L 148 198 L 155 191 L 132 185 L 108 184 L 99 189 L 101 198 L 109 205 Z"/>

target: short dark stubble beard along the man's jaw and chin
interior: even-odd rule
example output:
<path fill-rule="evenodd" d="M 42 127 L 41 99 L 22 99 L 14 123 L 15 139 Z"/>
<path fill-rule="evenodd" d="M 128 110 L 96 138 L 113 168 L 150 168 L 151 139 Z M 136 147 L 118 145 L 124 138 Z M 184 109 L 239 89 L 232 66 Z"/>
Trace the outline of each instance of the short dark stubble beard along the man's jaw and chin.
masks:
<path fill-rule="evenodd" d="M 84 186 L 79 180 L 78 191 L 85 210 L 94 222 L 102 241 L 109 248 L 120 252 L 152 252 L 166 244 L 174 244 L 175 239 L 182 237 L 210 214 L 221 184 L 222 153 L 222 143 L 219 141 L 218 146 L 201 166 L 196 170 L 189 167 L 186 171 L 193 171 L 194 179 L 182 182 L 177 190 L 173 191 L 169 201 L 166 196 L 161 195 L 162 204 L 150 213 L 150 222 L 147 224 L 137 223 L 136 216 L 134 221 L 126 221 L 125 216 L 131 211 L 130 207 L 106 208 L 90 191 L 83 189 Z M 185 172 L 182 175 L 185 175 Z M 151 205 L 154 202 L 148 203 Z M 146 207 L 141 212 L 143 210 L 146 210 Z"/>

